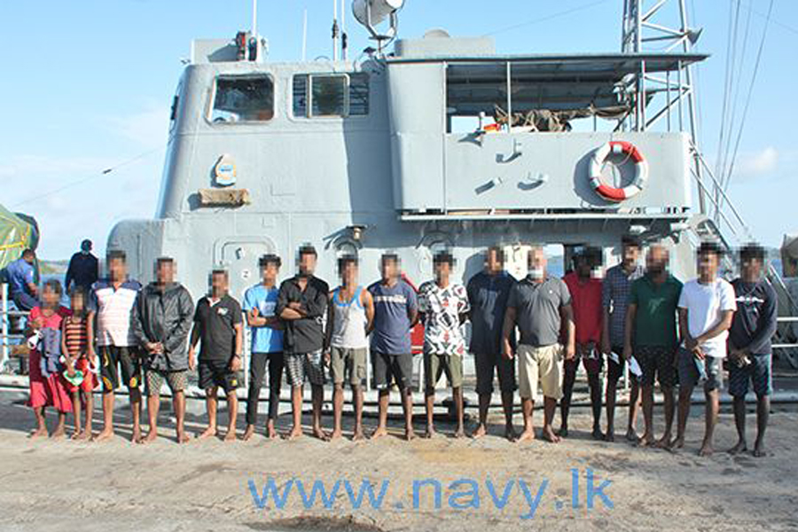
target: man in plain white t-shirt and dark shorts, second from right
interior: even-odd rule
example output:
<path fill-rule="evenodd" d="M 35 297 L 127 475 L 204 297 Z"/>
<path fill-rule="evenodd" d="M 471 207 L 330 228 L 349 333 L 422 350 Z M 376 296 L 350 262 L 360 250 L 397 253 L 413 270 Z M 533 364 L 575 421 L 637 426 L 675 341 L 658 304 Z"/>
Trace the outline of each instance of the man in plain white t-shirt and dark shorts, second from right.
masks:
<path fill-rule="evenodd" d="M 717 423 L 718 395 L 723 386 L 723 360 L 732 317 L 737 310 L 734 288 L 717 277 L 721 249 L 704 242 L 699 248 L 699 278 L 685 283 L 679 297 L 679 336 L 682 347 L 678 354 L 679 417 L 673 447 L 685 444 L 685 427 L 690 417 L 692 388 L 704 381 L 707 410 L 704 442 L 700 456 L 712 454 L 712 435 Z"/>

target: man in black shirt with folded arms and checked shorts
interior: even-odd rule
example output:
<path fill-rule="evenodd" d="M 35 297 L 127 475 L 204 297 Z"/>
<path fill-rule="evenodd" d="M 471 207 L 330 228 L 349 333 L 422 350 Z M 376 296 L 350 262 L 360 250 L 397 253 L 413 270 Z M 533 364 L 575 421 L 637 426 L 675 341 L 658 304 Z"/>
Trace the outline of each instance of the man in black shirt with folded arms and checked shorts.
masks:
<path fill-rule="evenodd" d="M 322 351 L 325 332 L 322 323 L 327 312 L 330 288 L 313 275 L 317 254 L 313 246 L 301 246 L 297 257 L 298 273 L 280 285 L 277 314 L 286 323 L 283 338 L 286 372 L 291 382 L 293 428 L 289 439 L 302 435 L 302 387 L 310 381 L 313 399 L 313 435 L 327 441 L 321 427 L 321 409 L 325 399 L 325 365 Z"/>

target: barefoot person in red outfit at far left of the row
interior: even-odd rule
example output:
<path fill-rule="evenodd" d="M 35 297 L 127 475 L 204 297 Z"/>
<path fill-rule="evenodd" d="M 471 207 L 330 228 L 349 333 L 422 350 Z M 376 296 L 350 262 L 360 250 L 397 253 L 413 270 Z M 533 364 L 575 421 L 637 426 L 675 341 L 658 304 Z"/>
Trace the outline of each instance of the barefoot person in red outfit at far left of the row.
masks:
<path fill-rule="evenodd" d="M 52 337 L 54 332 L 59 332 L 61 320 L 69 314 L 69 310 L 60 305 L 61 284 L 56 280 L 47 281 L 42 291 L 42 302 L 30 311 L 29 324 L 31 340 L 33 337 L 43 339 Z M 32 342 L 33 343 L 33 342 Z M 36 341 L 30 350 L 30 399 L 27 404 L 34 410 L 36 429 L 30 434 L 31 438 L 47 435 L 47 425 L 44 419 L 44 409 L 51 406 L 59 412 L 59 424 L 52 438 L 58 439 L 66 434 L 66 414 L 72 411 L 72 400 L 66 391 L 66 382 L 59 371 L 49 371 L 45 364 L 43 372 L 42 352 L 44 341 Z M 46 361 L 45 361 L 46 362 Z"/>

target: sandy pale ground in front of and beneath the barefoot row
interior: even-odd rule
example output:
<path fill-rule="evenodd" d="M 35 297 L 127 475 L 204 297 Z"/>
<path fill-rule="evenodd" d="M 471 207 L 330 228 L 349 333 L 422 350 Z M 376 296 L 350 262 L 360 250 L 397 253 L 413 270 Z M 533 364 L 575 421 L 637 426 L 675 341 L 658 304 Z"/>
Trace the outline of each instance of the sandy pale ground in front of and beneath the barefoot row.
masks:
<path fill-rule="evenodd" d="M 628 442 L 591 441 L 586 409 L 572 414 L 571 437 L 559 445 L 506 442 L 499 437 L 499 419 L 492 417 L 492 434 L 479 441 L 441 437 L 407 443 L 394 425 L 394 435 L 379 442 L 325 443 L 309 437 L 270 442 L 259 435 L 246 443 L 212 440 L 180 446 L 169 430 L 166 403 L 161 419 L 167 428 L 147 446 L 125 439 L 124 410 L 112 442 L 31 442 L 32 415 L 19 399 L 0 394 L 2 530 L 798 530 L 794 406 L 774 407 L 771 456 L 732 457 L 718 451 L 699 458 L 699 406 L 693 407 L 686 449 L 669 453 Z M 536 417 L 539 421 L 537 412 Z M 281 430 L 287 421 L 287 416 L 280 418 Z M 190 416 L 188 426 L 199 431 L 201 422 Z M 344 423 L 348 429 L 351 419 Z M 373 423 L 368 419 L 367 429 Z M 625 412 L 617 422 L 621 434 L 624 424 Z M 438 428 L 449 433 L 451 426 L 440 423 Z M 753 442 L 753 415 L 748 428 Z M 732 416 L 724 407 L 716 448 L 725 450 L 734 441 Z M 592 497 L 592 509 L 587 507 L 588 469 L 597 488 L 611 482 L 603 489 L 606 500 Z M 576 496 L 572 470 L 578 475 Z M 289 489 L 282 509 L 271 498 L 263 507 L 257 504 L 270 479 L 280 493 Z M 413 482 L 425 479 L 440 482 L 440 508 L 435 508 L 429 484 L 419 487 L 418 504 L 413 504 Z M 328 490 L 342 482 L 330 509 L 318 500 L 311 508 L 303 505 L 297 482 L 309 493 L 317 480 L 325 481 Z M 388 481 L 379 509 L 367 502 L 353 507 L 343 482 L 357 494 L 364 480 L 374 484 L 375 494 Z M 464 482 L 452 485 L 458 480 Z M 507 503 L 500 509 L 494 497 L 501 502 L 505 488 Z M 541 494 L 534 516 L 524 489 L 529 500 Z M 457 504 L 470 506 L 459 509 Z"/>

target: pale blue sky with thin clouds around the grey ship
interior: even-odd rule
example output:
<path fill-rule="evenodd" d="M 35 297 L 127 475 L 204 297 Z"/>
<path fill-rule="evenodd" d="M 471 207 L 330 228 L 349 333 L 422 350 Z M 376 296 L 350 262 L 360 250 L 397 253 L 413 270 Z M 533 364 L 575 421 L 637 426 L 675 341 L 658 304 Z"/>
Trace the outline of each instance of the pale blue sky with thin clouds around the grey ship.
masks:
<path fill-rule="evenodd" d="M 699 72 L 700 140 L 710 161 L 717 153 L 732 2 L 688 0 L 692 25 L 704 30 L 699 51 L 712 54 Z M 738 61 L 739 102 L 768 4 L 741 2 L 738 59 L 749 12 L 750 33 Z M 308 57 L 331 53 L 332 0 L 261 0 L 258 28 L 270 41 L 270 59 L 300 59 L 305 9 Z M 85 237 L 103 253 L 113 223 L 153 215 L 180 59 L 188 57 L 192 38 L 231 37 L 249 27 L 250 10 L 249 0 L 0 3 L 0 203 L 36 216 L 41 256 L 66 258 Z M 407 0 L 400 34 L 443 27 L 451 35 L 492 34 L 502 52 L 618 51 L 621 13 L 622 0 Z M 353 22 L 348 16 L 354 53 L 369 42 Z M 791 98 L 796 48 L 798 2 L 775 0 L 730 189 L 755 237 L 772 246 L 798 230 L 788 216 L 798 193 L 791 176 L 798 164 Z M 739 106 L 738 121 L 741 113 Z"/>

